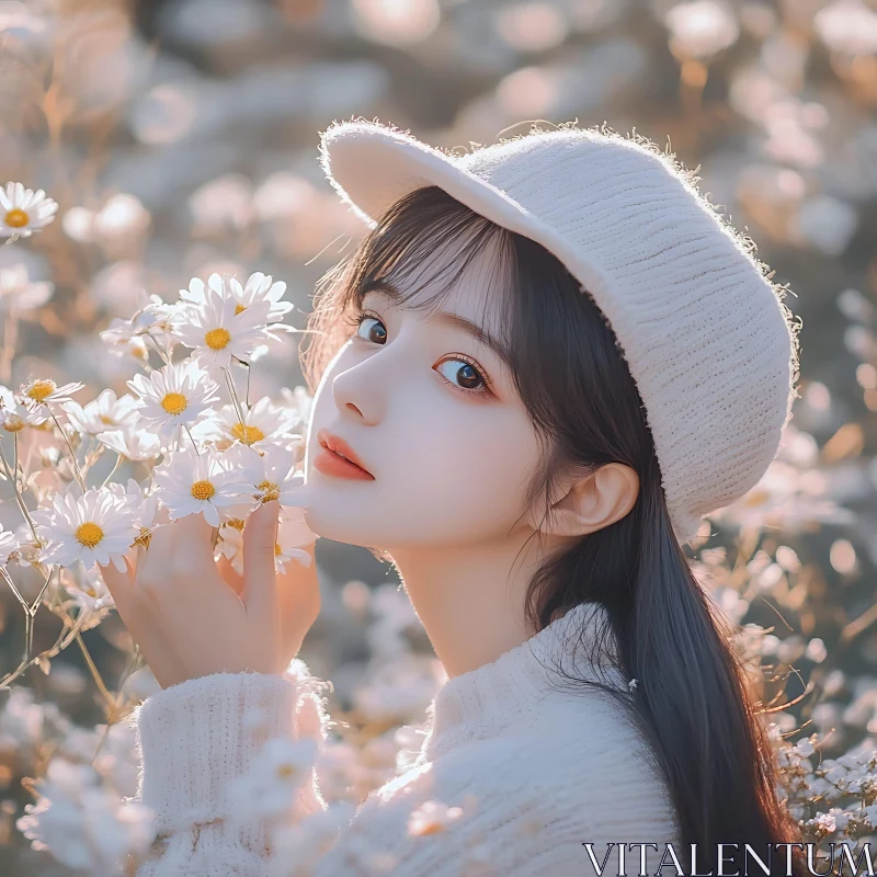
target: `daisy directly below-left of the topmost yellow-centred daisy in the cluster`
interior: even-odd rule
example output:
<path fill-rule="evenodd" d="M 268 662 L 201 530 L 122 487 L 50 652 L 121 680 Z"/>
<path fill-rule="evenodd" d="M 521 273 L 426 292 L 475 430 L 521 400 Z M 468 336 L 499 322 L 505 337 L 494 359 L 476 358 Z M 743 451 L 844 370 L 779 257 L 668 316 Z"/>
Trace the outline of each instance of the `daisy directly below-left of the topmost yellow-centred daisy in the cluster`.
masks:
<path fill-rule="evenodd" d="M 218 384 L 187 360 L 176 365 L 166 365 L 150 375 L 135 375 L 128 381 L 140 398 L 143 424 L 169 435 L 180 424 L 190 425 L 219 397 Z"/>

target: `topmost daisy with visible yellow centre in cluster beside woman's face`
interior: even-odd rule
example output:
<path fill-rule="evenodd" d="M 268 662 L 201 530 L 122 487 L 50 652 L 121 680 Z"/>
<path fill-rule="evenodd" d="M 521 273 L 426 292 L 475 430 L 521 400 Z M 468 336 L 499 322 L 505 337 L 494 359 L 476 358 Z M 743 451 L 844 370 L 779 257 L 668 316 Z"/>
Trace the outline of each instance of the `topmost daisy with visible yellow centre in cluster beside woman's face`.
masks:
<path fill-rule="evenodd" d="M 267 305 L 236 312 L 231 297 L 208 291 L 202 304 L 190 304 L 173 326 L 173 334 L 205 368 L 227 368 L 231 357 L 246 361 L 267 330 Z"/>

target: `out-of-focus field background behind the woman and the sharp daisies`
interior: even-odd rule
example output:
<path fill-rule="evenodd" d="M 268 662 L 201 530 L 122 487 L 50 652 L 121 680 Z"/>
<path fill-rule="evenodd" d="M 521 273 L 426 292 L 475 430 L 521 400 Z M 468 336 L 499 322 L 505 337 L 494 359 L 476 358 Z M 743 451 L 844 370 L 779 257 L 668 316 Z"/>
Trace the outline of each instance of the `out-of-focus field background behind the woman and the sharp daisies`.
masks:
<path fill-rule="evenodd" d="M 0 183 L 60 205 L 44 232 L 0 247 L 0 384 L 125 392 L 137 363 L 99 332 L 213 271 L 285 281 L 303 328 L 316 281 L 363 232 L 322 176 L 319 132 L 358 116 L 460 149 L 534 121 L 636 130 L 699 168 L 788 285 L 802 321 L 793 424 L 762 483 L 690 554 L 743 625 L 777 727 L 793 743 L 819 736 L 798 750 L 806 816 L 843 836 L 830 809 L 877 795 L 874 774 L 841 783 L 845 798 L 815 774 L 877 747 L 877 0 L 0 2 Z M 18 265 L 53 284 L 38 308 L 16 306 Z M 253 367 L 253 398 L 304 383 L 298 340 Z M 0 499 L 15 528 L 8 482 Z M 332 681 L 342 722 L 324 787 L 358 800 L 415 744 L 443 671 L 387 565 L 324 539 L 317 558 L 323 611 L 301 657 Z M 34 600 L 38 582 L 19 576 Z M 101 623 L 48 653 L 66 594 L 53 585 L 34 616 L 32 656 L 47 653 L 0 691 L 2 875 L 86 873 L 15 827 L 53 760 L 136 787 L 122 705 L 155 683 L 105 596 L 88 607 Z M 0 677 L 25 620 L 0 582 Z M 58 795 L 62 846 L 88 833 L 89 807 L 73 781 Z"/>

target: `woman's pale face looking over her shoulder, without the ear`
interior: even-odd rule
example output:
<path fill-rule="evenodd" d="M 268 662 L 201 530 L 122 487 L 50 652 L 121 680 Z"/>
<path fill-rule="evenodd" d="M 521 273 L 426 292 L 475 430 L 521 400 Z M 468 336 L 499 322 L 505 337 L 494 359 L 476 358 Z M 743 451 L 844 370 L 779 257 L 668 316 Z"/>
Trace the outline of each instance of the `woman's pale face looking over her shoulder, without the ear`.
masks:
<path fill-rule="evenodd" d="M 435 277 L 453 252 L 432 257 L 422 272 Z M 499 353 L 447 316 L 497 337 L 493 296 L 503 287 L 493 258 L 491 244 L 431 309 L 396 305 L 385 288 L 366 293 L 362 322 L 350 327 L 311 407 L 305 521 L 315 533 L 391 553 L 504 542 L 526 525 L 519 519 L 539 459 L 536 433 Z M 345 441 L 374 480 L 315 469 L 323 430 Z"/>

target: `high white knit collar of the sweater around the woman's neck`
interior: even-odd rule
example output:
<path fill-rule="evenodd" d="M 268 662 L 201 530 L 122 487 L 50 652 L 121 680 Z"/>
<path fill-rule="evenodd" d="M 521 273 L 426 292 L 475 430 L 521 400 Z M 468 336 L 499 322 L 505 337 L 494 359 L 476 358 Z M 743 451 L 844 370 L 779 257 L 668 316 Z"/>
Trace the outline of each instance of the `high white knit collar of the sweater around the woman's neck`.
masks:
<path fill-rule="evenodd" d="M 574 692 L 563 674 L 626 690 L 627 677 L 611 663 L 617 648 L 605 607 L 580 603 L 496 661 L 447 680 L 428 708 L 421 758 L 501 733 L 558 684 Z"/>

